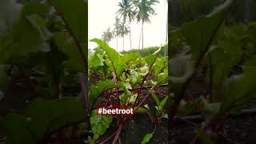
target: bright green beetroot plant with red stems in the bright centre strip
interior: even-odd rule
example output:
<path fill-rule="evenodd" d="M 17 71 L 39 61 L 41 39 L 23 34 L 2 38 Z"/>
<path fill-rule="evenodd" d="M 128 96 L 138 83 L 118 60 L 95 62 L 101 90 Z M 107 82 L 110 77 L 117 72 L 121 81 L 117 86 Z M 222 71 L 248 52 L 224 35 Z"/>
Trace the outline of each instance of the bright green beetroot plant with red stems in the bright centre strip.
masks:
<path fill-rule="evenodd" d="M 90 86 L 90 110 L 93 111 L 94 106 L 98 105 L 98 102 L 103 100 L 104 106 L 114 104 L 131 106 L 134 108 L 134 113 L 138 113 L 138 109 L 144 105 L 146 99 L 150 97 L 150 94 L 153 93 L 158 86 L 166 82 L 168 75 L 166 64 L 156 69 L 156 63 L 159 59 L 162 59 L 158 58 L 161 47 L 158 51 L 154 52 L 154 54 L 142 58 L 138 53 L 119 54 L 100 39 L 94 38 L 91 42 L 96 42 L 100 49 L 94 52 L 94 55 L 89 61 L 90 75 L 98 73 L 96 78 L 90 77 L 90 80 L 94 81 L 94 84 Z M 164 64 L 164 60 L 161 62 Z M 153 78 L 151 75 L 155 77 Z M 150 86 L 150 90 L 147 90 L 146 86 Z M 162 114 L 166 100 L 167 97 L 162 101 L 162 104 L 158 106 L 159 114 Z M 106 118 L 101 115 L 90 115 L 91 118 L 92 116 Z M 112 116 L 108 118 L 110 119 Z M 131 116 L 120 115 L 115 118 L 118 118 L 118 130 L 102 143 L 107 142 L 113 137 L 114 140 L 112 143 L 117 142 L 123 126 L 130 120 Z M 106 122 L 103 123 L 106 124 Z M 110 123 L 108 124 L 110 125 Z M 94 135 L 96 135 L 97 133 L 94 132 L 95 126 L 92 122 L 91 126 Z M 109 127 L 101 126 L 100 123 L 98 126 L 103 127 L 102 131 L 106 131 L 106 128 Z M 98 135 L 100 136 L 102 134 Z"/>

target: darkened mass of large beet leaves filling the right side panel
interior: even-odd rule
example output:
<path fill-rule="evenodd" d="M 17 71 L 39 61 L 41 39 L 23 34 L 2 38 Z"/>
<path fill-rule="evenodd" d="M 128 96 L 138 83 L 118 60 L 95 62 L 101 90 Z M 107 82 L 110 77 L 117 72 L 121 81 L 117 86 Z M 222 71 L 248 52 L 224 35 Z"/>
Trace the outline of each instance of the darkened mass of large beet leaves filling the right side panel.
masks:
<path fill-rule="evenodd" d="M 233 2 L 227 0 L 210 14 L 170 31 L 169 126 L 173 130 L 174 116 L 202 114 L 204 122 L 196 126 L 191 143 L 197 138 L 202 143 L 214 143 L 216 135 L 222 138 L 224 123 L 256 98 L 256 25 L 228 25 L 226 14 Z M 194 78 L 202 78 L 206 94 L 191 94 Z"/>

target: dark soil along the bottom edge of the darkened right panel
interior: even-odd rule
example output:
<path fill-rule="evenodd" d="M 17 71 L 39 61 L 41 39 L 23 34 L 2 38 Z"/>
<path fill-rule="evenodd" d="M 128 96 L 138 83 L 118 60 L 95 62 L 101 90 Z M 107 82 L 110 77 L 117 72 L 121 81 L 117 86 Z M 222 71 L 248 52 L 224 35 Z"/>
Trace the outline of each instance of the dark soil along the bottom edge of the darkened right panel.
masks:
<path fill-rule="evenodd" d="M 194 138 L 195 126 L 181 123 L 174 126 L 171 144 L 187 144 Z M 237 116 L 227 121 L 224 126 L 224 137 L 214 138 L 218 144 L 252 144 L 256 143 L 256 114 Z M 232 142 L 231 142 L 232 141 Z M 200 143 L 200 142 L 198 142 Z"/>

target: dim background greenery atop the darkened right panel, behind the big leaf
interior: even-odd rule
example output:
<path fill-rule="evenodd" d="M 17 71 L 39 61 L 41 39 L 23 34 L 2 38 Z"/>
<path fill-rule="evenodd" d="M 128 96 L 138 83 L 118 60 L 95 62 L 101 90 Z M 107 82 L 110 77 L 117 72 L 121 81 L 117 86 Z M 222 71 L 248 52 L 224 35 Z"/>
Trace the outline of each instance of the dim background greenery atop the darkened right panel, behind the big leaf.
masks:
<path fill-rule="evenodd" d="M 215 6 L 224 0 L 170 0 L 171 24 L 181 26 L 202 14 L 209 14 Z M 226 14 L 226 23 L 250 22 L 256 19 L 256 2 L 254 0 L 235 0 Z"/>

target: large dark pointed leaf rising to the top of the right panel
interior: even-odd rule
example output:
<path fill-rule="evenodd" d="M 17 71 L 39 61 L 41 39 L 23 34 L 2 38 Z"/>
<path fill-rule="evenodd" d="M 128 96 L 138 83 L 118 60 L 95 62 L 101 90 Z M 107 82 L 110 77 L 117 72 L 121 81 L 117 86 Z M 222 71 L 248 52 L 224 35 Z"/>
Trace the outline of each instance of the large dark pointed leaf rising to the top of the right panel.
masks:
<path fill-rule="evenodd" d="M 190 45 L 193 60 L 198 61 L 202 53 L 210 47 L 210 42 L 217 34 L 218 27 L 222 24 L 223 16 L 231 2 L 232 0 L 228 0 L 218 6 L 211 14 L 182 26 L 182 33 Z"/>

